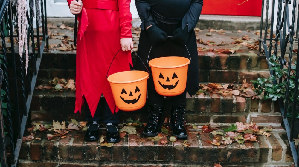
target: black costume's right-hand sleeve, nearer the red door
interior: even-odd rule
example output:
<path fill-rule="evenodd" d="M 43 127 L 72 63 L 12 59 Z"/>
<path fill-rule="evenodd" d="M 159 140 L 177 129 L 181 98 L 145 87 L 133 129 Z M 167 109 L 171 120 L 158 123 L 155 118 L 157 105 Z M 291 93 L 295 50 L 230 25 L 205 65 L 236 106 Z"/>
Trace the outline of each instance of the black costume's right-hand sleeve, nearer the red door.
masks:
<path fill-rule="evenodd" d="M 203 0 L 191 0 L 189 10 L 182 19 L 182 30 L 188 24 L 188 31 L 194 29 L 202 12 Z"/>

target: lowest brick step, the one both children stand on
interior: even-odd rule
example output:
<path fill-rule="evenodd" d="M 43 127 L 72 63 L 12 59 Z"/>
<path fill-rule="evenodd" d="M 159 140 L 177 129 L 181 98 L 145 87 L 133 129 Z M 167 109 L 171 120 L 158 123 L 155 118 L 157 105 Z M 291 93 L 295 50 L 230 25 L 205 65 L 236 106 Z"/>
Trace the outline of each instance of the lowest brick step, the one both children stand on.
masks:
<path fill-rule="evenodd" d="M 140 129 L 141 131 L 142 129 Z M 201 132 L 201 129 L 190 129 Z M 105 130 L 100 129 L 105 135 Z M 28 133 L 28 132 L 26 132 Z M 53 132 L 37 132 L 33 140 L 22 143 L 19 166 L 49 167 L 125 167 L 125 166 L 213 166 L 220 163 L 228 166 L 289 166 L 293 163 L 288 139 L 283 129 L 274 129 L 268 138 L 259 135 L 261 142 L 245 142 L 245 149 L 234 142 L 227 146 L 213 146 L 206 141 L 213 140 L 209 133 L 191 134 L 187 141 L 191 145 L 184 147 L 183 140 L 162 145 L 160 141 L 137 142 L 142 134 L 127 134 L 112 147 L 100 146 L 96 142 L 84 141 L 85 131 L 68 132 L 64 139 L 54 137 L 46 140 L 46 134 Z M 28 135 L 28 134 L 25 134 Z M 166 138 L 166 137 L 165 137 Z M 169 137 L 168 137 L 169 138 Z M 97 148 L 97 146 L 100 146 Z"/>

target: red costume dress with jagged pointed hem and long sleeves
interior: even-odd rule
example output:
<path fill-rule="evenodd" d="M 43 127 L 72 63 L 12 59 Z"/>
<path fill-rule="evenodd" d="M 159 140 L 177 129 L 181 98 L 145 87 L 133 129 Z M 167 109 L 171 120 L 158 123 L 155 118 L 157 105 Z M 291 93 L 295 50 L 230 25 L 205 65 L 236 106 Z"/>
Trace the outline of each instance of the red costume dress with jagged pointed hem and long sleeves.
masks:
<path fill-rule="evenodd" d="M 70 5 L 73 0 L 67 1 Z M 118 112 L 106 75 L 121 49 L 120 38 L 132 38 L 130 0 L 82 0 L 82 3 L 78 15 L 75 112 L 81 113 L 86 100 L 93 117 L 102 94 L 112 113 Z M 130 70 L 129 64 L 131 53 L 120 51 L 108 76 Z"/>

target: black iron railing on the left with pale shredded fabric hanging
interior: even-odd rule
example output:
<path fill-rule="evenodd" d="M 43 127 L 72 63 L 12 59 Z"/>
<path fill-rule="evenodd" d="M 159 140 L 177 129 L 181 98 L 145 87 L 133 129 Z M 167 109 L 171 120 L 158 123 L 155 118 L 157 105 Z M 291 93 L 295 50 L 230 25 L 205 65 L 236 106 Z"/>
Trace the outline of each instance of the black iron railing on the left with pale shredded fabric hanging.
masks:
<path fill-rule="evenodd" d="M 12 6 L 10 0 L 0 0 L 2 47 L 0 54 L 3 55 L 0 66 L 4 74 L 4 80 L 2 83 L 0 83 L 3 92 L 2 100 L 0 100 L 0 102 L 3 102 L 1 103 L 0 109 L 1 167 L 17 166 L 22 144 L 22 137 L 27 123 L 30 103 L 36 83 L 39 65 L 42 59 L 42 53 L 45 47 L 48 49 L 46 0 L 29 0 L 29 4 L 29 12 L 27 11 L 26 13 L 28 24 L 16 25 L 27 27 L 27 49 L 29 51 L 29 63 L 28 72 L 26 74 L 24 70 L 25 63 L 22 64 L 21 57 L 18 53 L 15 53 L 14 43 L 17 42 L 16 40 L 18 40 L 16 38 L 18 35 L 14 34 L 13 30 L 14 20 L 16 20 L 18 17 L 18 15 L 16 15 L 16 7 Z M 38 7 L 33 8 L 34 4 L 40 4 L 40 10 Z M 41 28 L 34 32 L 33 16 L 34 14 L 38 14 L 36 12 L 39 11 L 40 15 L 35 16 L 41 16 L 41 20 L 40 23 L 36 22 L 36 26 Z M 7 28 L 9 31 L 9 36 L 5 36 L 7 34 L 5 33 Z M 39 34 L 40 31 L 42 32 L 42 35 Z M 16 33 L 18 34 L 18 31 L 16 31 Z M 5 41 L 7 38 L 10 39 L 9 47 Z M 29 44 L 30 42 L 31 44 Z M 18 49 L 18 47 L 16 47 L 16 49 Z M 25 53 L 21 56 L 24 57 Z M 23 60 L 25 60 L 25 57 Z M 4 109 L 2 104 L 4 103 L 7 104 L 7 106 L 5 106 L 6 116 L 3 115 Z M 10 156 L 8 157 L 8 155 Z"/>

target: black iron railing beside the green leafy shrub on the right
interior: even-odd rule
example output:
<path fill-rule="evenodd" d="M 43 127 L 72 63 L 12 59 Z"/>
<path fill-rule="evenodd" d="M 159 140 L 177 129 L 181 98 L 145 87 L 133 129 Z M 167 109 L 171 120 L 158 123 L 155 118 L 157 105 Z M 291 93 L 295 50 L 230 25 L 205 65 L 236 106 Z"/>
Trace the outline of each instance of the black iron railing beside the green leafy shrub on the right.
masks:
<path fill-rule="evenodd" d="M 275 3 L 277 3 L 277 10 L 275 8 Z M 286 77 L 276 78 L 273 84 L 285 82 L 286 83 L 286 94 L 285 98 L 278 99 L 278 103 L 281 110 L 281 115 L 283 117 L 283 126 L 285 127 L 287 136 L 289 138 L 289 144 L 292 151 L 295 166 L 299 166 L 298 150 L 294 143 L 295 134 L 295 118 L 298 115 L 298 75 L 299 75 L 299 52 L 295 54 L 294 49 L 298 49 L 298 22 L 299 17 L 296 6 L 298 0 L 272 0 L 272 12 L 269 13 L 269 0 L 263 0 L 262 6 L 262 17 L 261 17 L 261 27 L 260 27 L 260 52 L 261 46 L 264 48 L 264 52 L 269 64 L 270 74 L 273 76 L 274 70 L 271 69 L 271 63 L 269 63 L 269 58 L 271 55 L 279 57 L 280 69 L 287 69 Z M 266 5 L 266 6 L 265 6 Z M 289 10 L 292 11 L 292 17 L 289 16 Z M 263 15 L 263 13 L 266 15 Z M 277 13 L 276 21 L 274 20 L 275 13 Z M 270 27 L 268 27 L 269 20 L 271 18 Z M 276 22 L 276 27 L 274 27 L 274 21 Z M 270 28 L 270 29 L 269 29 Z M 262 35 L 264 30 L 264 36 Z M 274 32 L 275 30 L 275 32 Z M 274 35 L 275 34 L 275 37 Z M 272 52 L 274 50 L 274 52 Z M 288 62 L 286 56 L 288 55 Z M 292 57 L 297 56 L 297 60 L 292 62 Z M 295 73 L 295 86 L 291 88 L 290 81 L 292 75 L 292 65 L 296 65 Z M 278 81 L 278 82 L 277 82 Z M 294 89 L 294 90 L 293 90 Z M 290 93 L 291 92 L 291 93 Z M 291 97 L 290 97 L 291 96 Z M 291 106 L 291 108 L 290 108 Z M 290 109 L 289 109 L 290 108 Z M 289 113 L 289 114 L 288 114 Z"/>

